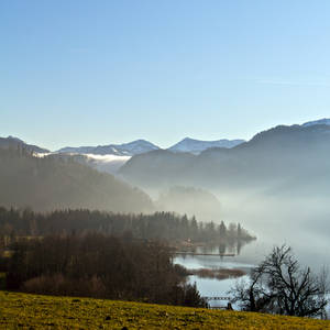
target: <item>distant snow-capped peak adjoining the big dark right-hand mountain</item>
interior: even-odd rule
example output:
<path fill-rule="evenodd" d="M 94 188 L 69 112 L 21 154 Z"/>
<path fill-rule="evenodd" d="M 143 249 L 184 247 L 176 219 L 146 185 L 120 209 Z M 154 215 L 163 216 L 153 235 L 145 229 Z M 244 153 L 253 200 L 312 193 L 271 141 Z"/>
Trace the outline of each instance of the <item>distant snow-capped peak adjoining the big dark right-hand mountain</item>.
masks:
<path fill-rule="evenodd" d="M 217 141 L 200 141 L 194 140 L 190 138 L 186 138 L 180 142 L 174 144 L 168 150 L 172 152 L 186 152 L 193 154 L 200 154 L 202 151 L 210 148 L 210 147 L 233 147 L 241 143 L 245 142 L 244 140 L 217 140 Z"/>

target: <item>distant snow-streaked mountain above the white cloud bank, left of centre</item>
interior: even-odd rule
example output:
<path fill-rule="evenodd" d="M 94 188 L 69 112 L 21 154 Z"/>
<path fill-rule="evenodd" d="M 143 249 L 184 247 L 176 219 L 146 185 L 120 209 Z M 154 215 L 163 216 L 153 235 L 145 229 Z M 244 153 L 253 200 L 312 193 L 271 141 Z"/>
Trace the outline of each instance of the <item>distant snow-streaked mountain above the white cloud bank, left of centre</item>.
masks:
<path fill-rule="evenodd" d="M 79 147 L 63 147 L 57 153 L 75 153 L 75 154 L 95 154 L 95 155 L 117 155 L 117 156 L 133 156 L 147 153 L 160 147 L 145 140 L 136 140 L 123 144 L 109 144 L 98 146 L 79 146 Z"/>

